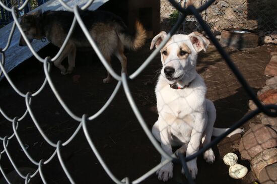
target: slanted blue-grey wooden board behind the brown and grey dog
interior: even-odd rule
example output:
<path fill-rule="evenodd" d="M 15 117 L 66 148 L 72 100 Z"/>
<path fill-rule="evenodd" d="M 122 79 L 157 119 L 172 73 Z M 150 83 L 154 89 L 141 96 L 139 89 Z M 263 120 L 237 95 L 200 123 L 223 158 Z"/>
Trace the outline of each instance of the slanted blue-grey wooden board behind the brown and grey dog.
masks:
<path fill-rule="evenodd" d="M 88 8 L 89 10 L 96 10 L 104 3 L 108 2 L 109 0 L 95 0 L 94 3 Z M 67 5 L 70 7 L 74 7 L 75 5 L 83 6 L 88 1 L 87 0 L 67 0 L 65 1 Z M 36 12 L 38 10 L 42 10 L 42 12 L 47 10 L 65 10 L 60 3 L 56 0 L 50 0 L 45 4 L 37 7 L 36 9 L 32 10 L 29 13 Z M 28 13 L 28 14 L 29 14 Z M 7 44 L 8 37 L 10 35 L 10 31 L 12 29 L 13 22 L 6 25 L 5 27 L 0 29 L 0 48 L 4 48 Z M 29 50 L 28 46 L 19 46 L 19 39 L 20 39 L 20 32 L 16 28 L 13 38 L 11 40 L 11 45 L 8 50 L 5 51 L 5 70 L 6 72 L 10 72 L 16 66 L 24 62 L 26 59 L 33 56 L 32 52 Z M 32 46 L 34 50 L 37 52 L 41 48 L 45 47 L 49 42 L 46 40 L 42 42 L 41 40 L 33 40 Z M 1 58 L 2 59 L 2 58 Z M 4 74 L 0 77 L 0 81 L 4 78 Z"/>

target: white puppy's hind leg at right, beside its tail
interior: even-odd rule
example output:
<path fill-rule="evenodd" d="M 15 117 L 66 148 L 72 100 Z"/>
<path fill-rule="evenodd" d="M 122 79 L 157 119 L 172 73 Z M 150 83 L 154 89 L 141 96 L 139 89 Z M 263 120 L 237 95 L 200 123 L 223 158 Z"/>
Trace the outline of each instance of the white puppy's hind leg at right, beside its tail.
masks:
<path fill-rule="evenodd" d="M 203 146 L 209 144 L 211 142 L 214 124 L 216 121 L 216 108 L 212 101 L 206 100 L 206 114 L 207 114 L 207 126 L 204 131 L 204 135 L 202 137 L 202 144 Z M 215 161 L 215 154 L 212 148 L 207 149 L 204 152 L 204 159 L 208 163 L 213 163 Z"/>

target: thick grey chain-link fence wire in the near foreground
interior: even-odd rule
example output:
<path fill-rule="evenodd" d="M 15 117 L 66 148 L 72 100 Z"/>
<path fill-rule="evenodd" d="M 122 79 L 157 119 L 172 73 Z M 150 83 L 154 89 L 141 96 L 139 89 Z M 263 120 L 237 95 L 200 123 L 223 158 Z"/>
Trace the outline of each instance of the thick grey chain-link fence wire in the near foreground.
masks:
<path fill-rule="evenodd" d="M 88 141 L 92 151 L 94 152 L 95 156 L 97 157 L 98 161 L 100 162 L 100 164 L 102 165 L 102 167 L 104 168 L 104 170 L 106 171 L 107 175 L 115 182 L 115 183 L 140 183 L 141 181 L 143 181 L 144 179 L 146 179 L 147 177 L 149 177 L 150 175 L 152 175 L 153 173 L 155 173 L 158 169 L 160 169 L 161 167 L 163 167 L 165 164 L 171 162 L 171 161 L 178 161 L 181 162 L 184 168 L 184 171 L 186 173 L 186 177 L 188 178 L 190 183 L 193 183 L 193 180 L 190 176 L 190 173 L 187 169 L 187 164 L 186 162 L 189 160 L 192 160 L 194 158 L 196 158 L 197 156 L 199 156 L 200 154 L 202 154 L 205 150 L 211 148 L 212 146 L 216 145 L 217 143 L 219 143 L 224 137 L 226 137 L 228 134 L 230 134 L 231 132 L 233 132 L 236 128 L 240 127 L 242 124 L 244 124 L 247 120 L 249 120 L 250 118 L 252 118 L 253 116 L 255 116 L 256 114 L 263 112 L 269 116 L 277 116 L 277 105 L 262 105 L 261 102 L 256 98 L 254 92 L 252 91 L 252 89 L 249 87 L 248 83 L 245 81 L 245 79 L 243 78 L 243 76 L 241 75 L 241 73 L 238 71 L 238 69 L 236 68 L 236 66 L 233 64 L 233 62 L 231 61 L 229 55 L 226 53 L 226 51 L 221 47 L 221 45 L 219 44 L 219 42 L 217 41 L 217 39 L 214 37 L 213 32 L 210 30 L 210 28 L 207 26 L 207 24 L 205 23 L 205 21 L 202 19 L 201 16 L 201 12 L 205 12 L 207 10 L 207 8 L 209 6 L 211 6 L 215 1 L 211 0 L 209 2 L 206 2 L 205 4 L 203 4 L 201 7 L 199 7 L 198 9 L 196 9 L 193 6 L 189 6 L 186 9 L 183 9 L 182 7 L 180 7 L 178 5 L 178 3 L 176 3 L 174 0 L 169 0 L 169 2 L 179 11 L 181 12 L 181 16 L 179 17 L 179 20 L 176 22 L 176 24 L 173 26 L 173 28 L 170 30 L 170 32 L 168 33 L 167 37 L 164 39 L 164 41 L 160 44 L 160 46 L 155 49 L 153 51 L 153 53 L 145 60 L 145 62 L 131 75 L 126 76 L 125 73 L 122 73 L 121 76 L 117 75 L 114 70 L 108 65 L 107 61 L 104 59 L 102 53 L 99 51 L 97 45 L 95 44 L 94 40 L 92 39 L 92 37 L 90 36 L 88 29 L 86 28 L 83 20 L 81 19 L 80 16 L 80 9 L 85 10 L 87 9 L 92 3 L 93 0 L 90 0 L 87 2 L 86 5 L 84 5 L 83 7 L 69 7 L 65 2 L 63 2 L 62 0 L 58 0 L 59 3 L 68 11 L 73 12 L 74 13 L 74 20 L 70 29 L 70 32 L 68 32 L 68 35 L 66 36 L 66 39 L 64 40 L 63 45 L 61 46 L 59 52 L 53 57 L 50 58 L 49 56 L 42 58 L 37 52 L 34 51 L 32 45 L 30 44 L 30 42 L 28 41 L 28 39 L 26 38 L 26 35 L 24 34 L 22 28 L 20 27 L 20 24 L 17 20 L 17 12 L 22 10 L 24 8 L 24 6 L 26 6 L 27 4 L 24 4 L 23 6 L 16 8 L 16 7 L 12 7 L 9 8 L 7 6 L 5 6 L 5 4 L 3 4 L 2 1 L 0 1 L 0 5 L 1 7 L 3 7 L 5 10 L 11 12 L 12 17 L 14 19 L 14 23 L 13 23 L 13 27 L 10 31 L 10 36 L 7 42 L 7 45 L 5 48 L 0 48 L 0 53 L 1 53 L 1 62 L 0 62 L 0 76 L 4 75 L 6 77 L 6 79 L 8 80 L 8 82 L 10 83 L 11 87 L 15 90 L 15 92 L 21 96 L 22 98 L 25 99 L 25 103 L 26 103 L 26 111 L 24 112 L 24 114 L 20 117 L 10 117 L 7 115 L 7 113 L 5 113 L 5 111 L 0 107 L 0 113 L 2 114 L 2 116 L 4 118 L 6 118 L 8 121 L 11 122 L 11 125 L 13 127 L 13 133 L 11 135 L 5 135 L 3 137 L 0 137 L 0 141 L 3 143 L 3 146 L 0 147 L 0 171 L 2 173 L 2 175 L 5 177 L 6 181 L 8 183 L 11 183 L 9 178 L 7 177 L 6 173 L 4 172 L 4 168 L 1 165 L 2 161 L 10 161 L 11 164 L 13 165 L 14 169 L 16 170 L 16 172 L 18 173 L 18 175 L 20 177 L 22 177 L 25 180 L 25 183 L 31 183 L 32 179 L 39 175 L 42 182 L 43 183 L 47 183 L 47 180 L 45 178 L 45 175 L 43 174 L 43 165 L 48 164 L 51 160 L 53 160 L 53 158 L 57 158 L 59 161 L 59 164 L 61 165 L 65 175 L 67 176 L 68 180 L 71 183 L 76 183 L 75 182 L 75 178 L 72 177 L 71 175 L 71 170 L 68 170 L 66 168 L 65 162 L 62 159 L 62 153 L 61 153 L 61 148 L 62 147 L 66 147 L 68 144 L 70 144 L 72 142 L 72 140 L 76 137 L 76 135 L 80 132 L 83 131 L 84 136 L 86 138 L 86 140 Z M 213 4 L 214 5 L 214 4 Z M 246 114 L 244 117 L 242 117 L 238 122 L 236 122 L 236 124 L 234 124 L 232 127 L 230 127 L 230 129 L 225 132 L 224 134 L 222 134 L 221 136 L 215 138 L 210 144 L 204 146 L 203 148 L 201 148 L 197 153 L 188 156 L 188 157 L 184 157 L 184 155 L 180 154 L 180 155 L 168 155 L 160 146 L 160 144 L 155 140 L 155 138 L 153 137 L 153 135 L 151 134 L 151 131 L 149 130 L 142 114 L 140 113 L 140 111 L 138 110 L 130 89 L 128 87 L 128 81 L 129 80 L 134 80 L 138 75 L 141 74 L 141 72 L 152 62 L 153 58 L 160 52 L 160 49 L 166 44 L 166 42 L 171 38 L 171 35 L 173 35 L 178 28 L 180 27 L 180 25 L 184 22 L 185 18 L 187 15 L 194 15 L 195 19 L 197 19 L 198 24 L 202 27 L 202 29 L 205 31 L 205 33 L 211 38 L 211 41 L 214 43 L 214 45 L 216 46 L 216 48 L 218 49 L 218 51 L 220 52 L 220 54 L 223 56 L 223 58 L 226 60 L 227 65 L 230 67 L 230 69 L 233 71 L 233 73 L 235 74 L 235 76 L 237 77 L 238 81 L 241 83 L 241 85 L 243 86 L 243 88 L 245 89 L 245 91 L 247 92 L 247 94 L 249 95 L 249 97 L 254 101 L 254 103 L 257 105 L 257 109 L 254 111 L 249 112 L 248 114 Z M 54 83 L 52 82 L 52 79 L 50 77 L 50 66 L 52 65 L 52 63 L 56 60 L 56 58 L 58 58 L 58 56 L 61 54 L 61 50 L 64 49 L 66 43 L 68 42 L 68 39 L 70 38 L 71 34 L 73 33 L 73 29 L 75 27 L 76 24 L 79 24 L 80 27 L 82 28 L 82 30 L 84 31 L 87 39 L 89 40 L 91 46 L 93 47 L 93 49 L 95 50 L 96 54 L 98 55 L 98 57 L 100 58 L 102 64 L 104 65 L 104 67 L 107 69 L 107 71 L 113 76 L 114 79 L 116 79 L 118 81 L 112 95 L 110 96 L 110 98 L 107 100 L 107 102 L 103 105 L 103 107 L 96 112 L 95 114 L 90 114 L 90 115 L 86 115 L 83 114 L 82 116 L 78 116 L 75 113 L 72 112 L 72 110 L 65 104 L 65 102 L 62 99 L 62 96 L 60 96 L 59 92 L 57 91 Z M 11 80 L 11 78 L 9 77 L 9 75 L 7 74 L 6 70 L 5 70 L 5 52 L 7 51 L 7 49 L 9 49 L 10 47 L 10 43 L 11 43 L 11 39 L 13 37 L 13 33 L 15 31 L 15 28 L 17 28 L 20 30 L 23 38 L 25 39 L 29 49 L 32 51 L 32 53 L 34 54 L 34 56 L 38 59 L 39 62 L 43 63 L 43 67 L 44 67 L 44 74 L 45 74 L 45 80 L 42 83 L 41 87 L 36 91 L 36 92 L 27 92 L 26 94 L 22 93 L 20 91 L 19 88 L 16 87 L 16 85 L 13 83 L 13 81 Z M 60 105 L 63 107 L 63 109 L 66 111 L 66 113 L 71 116 L 72 119 L 76 120 L 77 122 L 79 122 L 79 125 L 77 127 L 77 129 L 75 130 L 75 132 L 72 134 L 72 136 L 67 139 L 64 142 L 61 141 L 57 141 L 57 142 L 53 142 L 51 141 L 47 135 L 44 133 L 40 122 L 36 119 L 36 115 L 32 109 L 32 105 L 31 105 L 31 101 L 32 98 L 37 96 L 42 90 L 44 90 L 46 83 L 49 84 L 53 94 L 55 95 L 55 97 L 57 98 L 58 102 L 60 103 Z M 142 176 L 138 177 L 135 180 L 130 180 L 127 176 L 125 178 L 117 178 L 112 170 L 109 169 L 108 165 L 105 164 L 101 154 L 99 154 L 97 148 L 95 147 L 95 144 L 93 142 L 93 140 L 91 139 L 90 136 L 90 132 L 88 131 L 87 128 L 87 121 L 89 120 L 93 120 L 95 119 L 97 116 L 99 116 L 102 113 L 105 113 L 105 109 L 109 106 L 109 104 L 111 103 L 111 101 L 113 100 L 113 98 L 115 97 L 116 93 L 118 92 L 119 88 L 123 86 L 124 92 L 126 94 L 126 97 L 129 101 L 129 104 L 136 116 L 136 118 L 138 119 L 138 121 L 140 122 L 140 125 L 142 126 L 143 130 L 145 131 L 146 135 L 148 136 L 149 140 L 151 141 L 151 143 L 154 145 L 154 147 L 157 149 L 157 151 L 162 154 L 166 160 L 156 166 L 154 166 L 151 170 L 147 171 L 145 174 L 143 174 Z M 21 137 L 18 133 L 18 127 L 21 124 L 22 119 L 24 119 L 26 117 L 26 115 L 29 114 L 34 122 L 35 127 L 37 128 L 37 130 L 39 131 L 40 135 L 43 137 L 43 139 L 48 143 L 49 146 L 53 147 L 55 150 L 52 152 L 51 156 L 49 158 L 46 159 L 39 159 L 36 160 L 34 159 L 28 152 L 28 150 L 25 148 L 24 143 L 21 141 Z M 17 140 L 21 149 L 23 150 L 24 154 L 27 156 L 27 158 L 29 159 L 30 163 L 32 163 L 33 165 L 36 165 L 37 169 L 35 172 L 33 173 L 27 173 L 27 174 L 23 174 L 20 170 L 18 165 L 16 165 L 13 155 L 11 154 L 11 152 L 9 152 L 9 142 L 10 140 Z M 8 156 L 8 160 L 3 160 L 3 155 L 6 154 Z M 58 164 L 58 163 L 57 163 Z"/>

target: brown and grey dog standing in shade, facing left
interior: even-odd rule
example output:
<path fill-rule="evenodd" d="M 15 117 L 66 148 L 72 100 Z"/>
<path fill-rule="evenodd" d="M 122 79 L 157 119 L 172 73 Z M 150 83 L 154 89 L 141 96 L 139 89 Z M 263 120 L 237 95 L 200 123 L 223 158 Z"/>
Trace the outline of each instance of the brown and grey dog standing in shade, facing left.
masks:
<path fill-rule="evenodd" d="M 128 32 L 122 20 L 112 13 L 104 11 L 82 11 L 81 18 L 95 40 L 103 56 L 110 64 L 111 56 L 115 55 L 121 63 L 121 72 L 126 71 L 127 58 L 124 55 L 124 46 L 136 50 L 143 46 L 146 40 L 146 31 L 142 24 L 136 22 L 135 33 Z M 74 14 L 67 11 L 46 11 L 36 12 L 31 15 L 24 15 L 21 20 L 21 27 L 28 40 L 42 39 L 46 37 L 54 45 L 61 47 L 65 37 L 70 30 Z M 27 45 L 21 36 L 20 46 Z M 61 70 L 61 74 L 72 73 L 75 67 L 77 47 L 91 47 L 79 24 L 54 65 Z M 68 57 L 68 68 L 65 69 L 61 62 Z M 111 82 L 112 77 L 108 73 L 104 83 Z"/>

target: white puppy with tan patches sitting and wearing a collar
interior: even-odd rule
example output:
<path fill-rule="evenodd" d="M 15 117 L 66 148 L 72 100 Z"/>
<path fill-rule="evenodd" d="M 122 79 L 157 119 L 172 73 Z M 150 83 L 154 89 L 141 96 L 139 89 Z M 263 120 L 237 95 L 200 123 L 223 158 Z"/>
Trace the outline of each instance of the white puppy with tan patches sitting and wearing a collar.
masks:
<path fill-rule="evenodd" d="M 166 36 L 164 31 L 155 36 L 150 49 L 159 46 Z M 152 133 L 168 154 L 172 154 L 172 146 L 181 146 L 176 152 L 190 156 L 198 151 L 200 143 L 209 144 L 212 135 L 228 130 L 214 128 L 216 109 L 214 103 L 205 98 L 205 83 L 196 72 L 197 54 L 206 51 L 209 44 L 204 36 L 193 32 L 173 35 L 161 49 L 163 68 L 155 90 L 159 118 Z M 232 135 L 241 131 L 237 129 Z M 215 161 L 212 148 L 204 152 L 204 159 L 209 163 Z M 164 160 L 162 156 L 161 162 Z M 187 166 L 195 178 L 196 159 L 187 162 Z M 163 166 L 157 174 L 163 181 L 172 178 L 173 163 Z"/>

